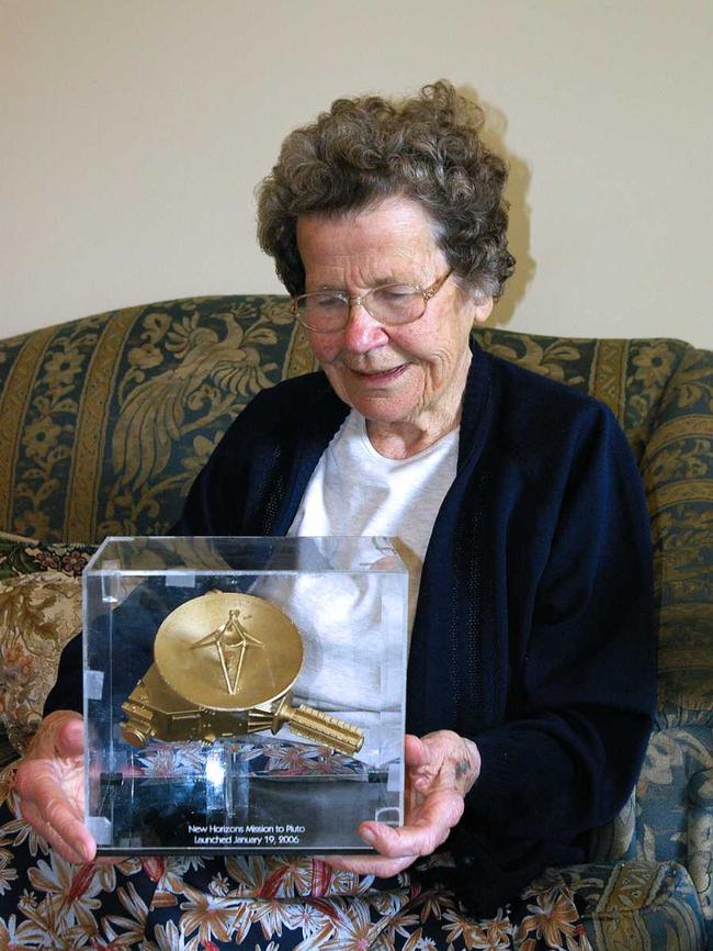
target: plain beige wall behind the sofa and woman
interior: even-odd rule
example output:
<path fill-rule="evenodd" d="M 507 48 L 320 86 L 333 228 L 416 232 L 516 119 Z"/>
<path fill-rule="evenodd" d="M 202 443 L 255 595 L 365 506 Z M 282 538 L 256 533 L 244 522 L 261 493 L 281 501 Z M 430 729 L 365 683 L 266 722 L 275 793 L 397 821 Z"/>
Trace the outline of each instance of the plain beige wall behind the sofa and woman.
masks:
<path fill-rule="evenodd" d="M 0 332 L 278 291 L 252 189 L 342 93 L 473 87 L 514 329 L 713 347 L 710 0 L 0 0 Z"/>

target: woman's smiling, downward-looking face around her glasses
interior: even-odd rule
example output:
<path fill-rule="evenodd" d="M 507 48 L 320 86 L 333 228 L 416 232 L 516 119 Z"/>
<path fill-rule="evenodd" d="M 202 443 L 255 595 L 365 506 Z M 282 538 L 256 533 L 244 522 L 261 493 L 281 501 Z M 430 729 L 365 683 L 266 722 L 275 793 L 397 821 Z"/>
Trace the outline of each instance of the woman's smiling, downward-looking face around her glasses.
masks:
<path fill-rule="evenodd" d="M 301 217 L 297 247 L 307 293 L 359 297 L 397 282 L 429 288 L 449 270 L 431 220 L 400 197 L 358 214 Z M 476 303 L 450 277 L 411 324 L 380 324 L 359 305 L 343 329 L 307 335 L 337 394 L 366 419 L 414 424 L 438 437 L 460 413 L 473 322 L 485 321 L 491 307 L 491 300 Z"/>

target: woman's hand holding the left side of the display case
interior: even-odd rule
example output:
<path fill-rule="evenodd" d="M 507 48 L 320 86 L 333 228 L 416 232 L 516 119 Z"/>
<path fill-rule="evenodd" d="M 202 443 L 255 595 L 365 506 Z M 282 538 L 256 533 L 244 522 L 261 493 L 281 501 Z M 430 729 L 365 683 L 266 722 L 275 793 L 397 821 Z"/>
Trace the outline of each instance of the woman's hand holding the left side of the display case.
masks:
<path fill-rule="evenodd" d="M 97 843 L 84 818 L 84 725 L 56 711 L 39 725 L 18 767 L 22 817 L 68 862 L 91 862 Z"/>

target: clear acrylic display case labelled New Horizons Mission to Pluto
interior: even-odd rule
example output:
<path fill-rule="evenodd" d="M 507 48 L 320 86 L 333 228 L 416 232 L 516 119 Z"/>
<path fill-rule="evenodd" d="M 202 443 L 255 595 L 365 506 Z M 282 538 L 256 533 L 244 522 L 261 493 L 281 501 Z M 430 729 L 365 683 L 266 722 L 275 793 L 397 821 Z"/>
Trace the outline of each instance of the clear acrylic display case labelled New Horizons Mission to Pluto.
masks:
<path fill-rule="evenodd" d="M 83 574 L 100 854 L 365 852 L 403 821 L 408 574 L 388 538 L 107 538 Z"/>

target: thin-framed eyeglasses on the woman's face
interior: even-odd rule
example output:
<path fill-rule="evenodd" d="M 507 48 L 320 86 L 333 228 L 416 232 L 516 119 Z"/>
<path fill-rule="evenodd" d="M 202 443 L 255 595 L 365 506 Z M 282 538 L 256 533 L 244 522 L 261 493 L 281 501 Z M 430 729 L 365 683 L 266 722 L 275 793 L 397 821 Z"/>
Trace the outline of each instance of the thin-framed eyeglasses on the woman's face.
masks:
<path fill-rule="evenodd" d="M 294 316 L 309 331 L 332 334 L 349 323 L 351 309 L 362 306 L 381 324 L 411 324 L 426 313 L 426 305 L 441 290 L 452 271 L 439 278 L 430 288 L 418 284 L 383 284 L 372 288 L 361 298 L 351 298 L 346 291 L 317 291 L 299 294 L 290 306 Z"/>

